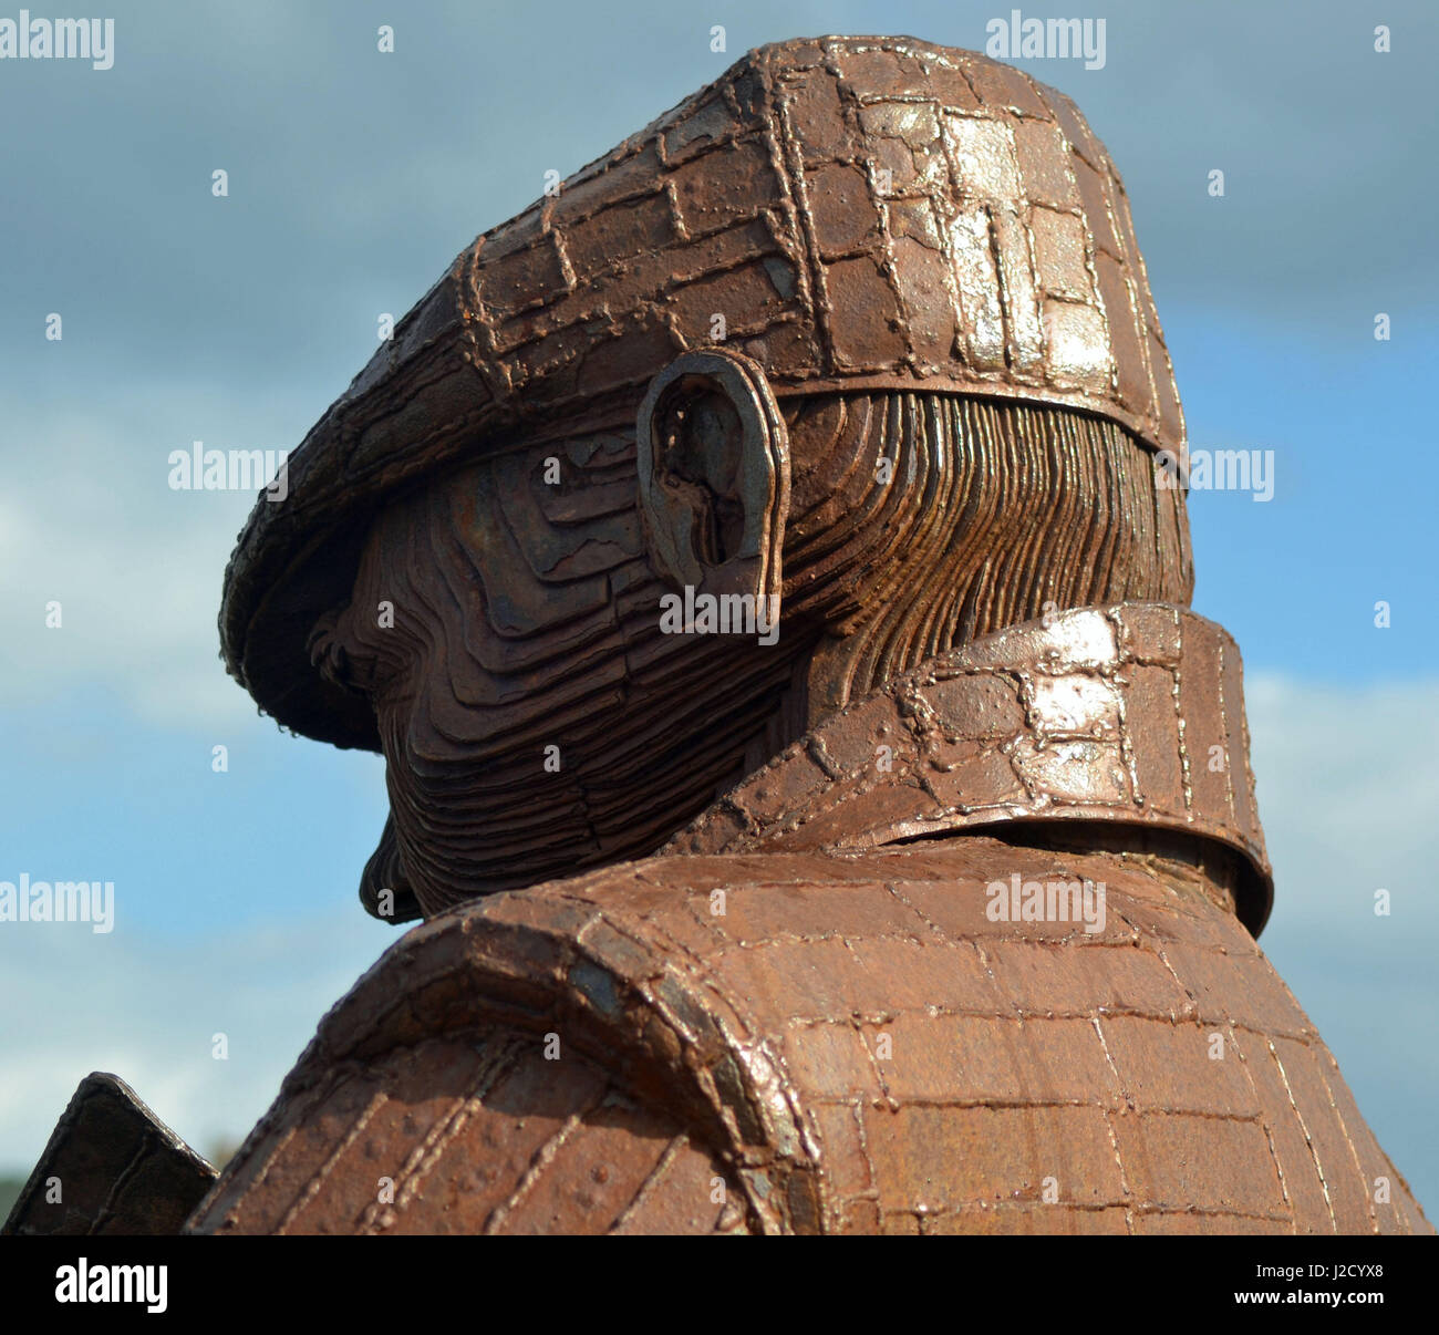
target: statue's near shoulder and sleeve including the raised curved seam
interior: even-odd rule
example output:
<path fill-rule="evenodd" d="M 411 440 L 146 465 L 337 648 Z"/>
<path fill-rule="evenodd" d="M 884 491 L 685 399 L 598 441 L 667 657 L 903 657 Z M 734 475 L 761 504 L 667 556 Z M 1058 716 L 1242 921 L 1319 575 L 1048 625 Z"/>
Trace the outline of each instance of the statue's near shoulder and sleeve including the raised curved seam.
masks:
<path fill-rule="evenodd" d="M 686 967 L 704 928 L 656 870 L 673 862 L 730 860 L 629 863 L 407 932 L 324 1017 L 187 1231 L 763 1227 L 738 1128 L 763 1141 L 773 1118 Z"/>

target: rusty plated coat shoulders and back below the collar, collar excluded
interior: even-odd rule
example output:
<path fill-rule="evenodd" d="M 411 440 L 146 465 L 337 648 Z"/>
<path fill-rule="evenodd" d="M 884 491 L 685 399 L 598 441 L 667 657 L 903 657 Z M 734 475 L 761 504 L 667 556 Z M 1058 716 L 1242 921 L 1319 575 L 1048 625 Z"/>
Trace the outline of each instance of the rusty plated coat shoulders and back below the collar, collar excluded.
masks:
<path fill-rule="evenodd" d="M 1105 880 L 1105 931 L 990 922 L 1012 870 Z M 190 1227 L 1425 1229 L 1197 879 L 973 836 L 661 857 L 455 909 L 327 1017 Z"/>

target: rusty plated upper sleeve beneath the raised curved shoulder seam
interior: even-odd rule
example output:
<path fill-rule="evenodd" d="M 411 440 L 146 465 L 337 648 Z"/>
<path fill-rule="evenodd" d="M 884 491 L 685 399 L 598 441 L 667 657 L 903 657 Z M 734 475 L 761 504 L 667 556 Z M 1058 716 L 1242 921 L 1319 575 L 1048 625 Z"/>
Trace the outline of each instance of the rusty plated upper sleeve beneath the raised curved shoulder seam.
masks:
<path fill-rule="evenodd" d="M 623 1077 L 481 1021 L 304 1063 L 191 1233 L 712 1233 L 709 1148 Z"/>

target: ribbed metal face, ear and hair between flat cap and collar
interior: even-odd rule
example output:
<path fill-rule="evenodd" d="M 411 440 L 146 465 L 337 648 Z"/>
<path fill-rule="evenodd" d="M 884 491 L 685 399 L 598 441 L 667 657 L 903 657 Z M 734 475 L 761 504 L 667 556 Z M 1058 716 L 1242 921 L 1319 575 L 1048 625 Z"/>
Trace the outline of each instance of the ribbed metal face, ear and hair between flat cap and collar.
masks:
<path fill-rule="evenodd" d="M 531 445 L 399 498 L 315 636 L 387 760 L 367 875 L 426 915 L 645 856 L 819 716 L 1046 603 L 1189 600 L 1183 495 L 1112 424 L 791 400 L 781 488 L 773 436 L 679 384 L 648 450 Z M 666 633 L 686 584 L 783 588 L 777 640 Z"/>

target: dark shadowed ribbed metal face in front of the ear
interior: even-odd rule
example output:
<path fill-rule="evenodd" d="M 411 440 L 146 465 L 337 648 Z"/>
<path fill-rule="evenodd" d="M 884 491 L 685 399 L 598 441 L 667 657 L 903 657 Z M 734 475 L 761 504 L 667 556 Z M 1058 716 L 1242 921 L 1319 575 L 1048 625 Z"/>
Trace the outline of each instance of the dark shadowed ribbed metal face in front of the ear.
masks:
<path fill-rule="evenodd" d="M 319 636 L 325 670 L 370 696 L 390 836 L 426 913 L 648 853 L 676 808 L 737 783 L 747 751 L 758 762 L 794 646 L 665 633 L 672 586 L 648 551 L 635 456 L 632 436 L 590 436 L 412 492 L 376 522 L 353 601 Z"/>

